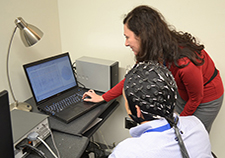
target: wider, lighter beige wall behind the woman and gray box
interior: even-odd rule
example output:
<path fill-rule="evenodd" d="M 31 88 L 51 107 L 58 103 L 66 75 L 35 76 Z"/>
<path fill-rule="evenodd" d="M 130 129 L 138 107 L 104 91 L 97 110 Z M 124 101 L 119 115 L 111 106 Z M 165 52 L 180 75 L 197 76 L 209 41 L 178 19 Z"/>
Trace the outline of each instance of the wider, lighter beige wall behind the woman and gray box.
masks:
<path fill-rule="evenodd" d="M 225 1 L 223 0 L 58 0 L 62 50 L 69 51 L 73 60 L 86 55 L 120 62 L 120 79 L 127 65 L 133 65 L 134 56 L 124 46 L 124 14 L 139 4 L 151 5 L 178 30 L 188 31 L 199 38 L 214 59 L 225 80 Z M 124 129 L 126 116 L 123 99 L 121 106 L 97 132 L 95 139 L 108 144 L 129 137 Z M 212 150 L 225 157 L 225 107 L 222 107 L 210 134 Z M 197 141 L 197 140 L 196 140 Z"/>

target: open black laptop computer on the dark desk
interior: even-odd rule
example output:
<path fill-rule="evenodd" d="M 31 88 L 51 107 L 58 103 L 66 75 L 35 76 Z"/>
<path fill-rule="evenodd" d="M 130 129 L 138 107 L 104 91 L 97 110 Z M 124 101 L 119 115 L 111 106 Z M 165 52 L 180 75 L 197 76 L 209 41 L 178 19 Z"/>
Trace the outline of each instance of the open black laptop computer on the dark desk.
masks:
<path fill-rule="evenodd" d="M 82 100 L 87 89 L 78 86 L 68 52 L 25 64 L 23 68 L 37 108 L 65 123 L 100 104 Z"/>

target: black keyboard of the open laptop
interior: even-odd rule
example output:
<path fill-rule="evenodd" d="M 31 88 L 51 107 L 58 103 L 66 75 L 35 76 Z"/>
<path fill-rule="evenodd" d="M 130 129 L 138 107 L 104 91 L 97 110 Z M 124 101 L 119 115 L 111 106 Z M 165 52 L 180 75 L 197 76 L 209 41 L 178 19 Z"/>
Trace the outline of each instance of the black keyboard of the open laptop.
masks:
<path fill-rule="evenodd" d="M 72 104 L 82 101 L 83 92 L 79 91 L 67 98 L 64 98 L 58 102 L 53 103 L 52 105 L 48 105 L 45 107 L 45 110 L 49 112 L 51 115 L 55 115 L 56 113 L 66 109 Z"/>

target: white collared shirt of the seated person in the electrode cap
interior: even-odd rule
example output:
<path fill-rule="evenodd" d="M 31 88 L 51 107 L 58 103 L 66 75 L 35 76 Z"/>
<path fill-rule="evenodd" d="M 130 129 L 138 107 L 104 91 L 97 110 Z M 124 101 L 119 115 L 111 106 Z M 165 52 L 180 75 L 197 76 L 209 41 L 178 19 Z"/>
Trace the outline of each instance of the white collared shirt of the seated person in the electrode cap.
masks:
<path fill-rule="evenodd" d="M 173 128 L 144 133 L 167 123 L 162 118 L 131 128 L 132 138 L 120 142 L 109 158 L 182 158 Z M 178 128 L 190 158 L 213 158 L 208 133 L 197 117 L 179 117 Z"/>

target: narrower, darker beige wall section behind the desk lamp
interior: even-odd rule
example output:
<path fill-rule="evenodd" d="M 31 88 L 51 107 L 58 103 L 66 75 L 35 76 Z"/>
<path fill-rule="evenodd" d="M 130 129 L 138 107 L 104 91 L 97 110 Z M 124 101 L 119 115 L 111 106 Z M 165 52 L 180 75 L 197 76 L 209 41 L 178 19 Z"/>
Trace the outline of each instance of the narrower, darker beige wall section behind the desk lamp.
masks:
<path fill-rule="evenodd" d="M 6 79 L 6 54 L 15 27 L 14 20 L 22 17 L 27 23 L 44 32 L 43 39 L 32 47 L 25 47 L 17 29 L 10 52 L 10 78 L 19 101 L 31 97 L 22 65 L 34 60 L 61 53 L 57 0 L 7 0 L 0 1 L 0 90 L 8 88 Z M 11 95 L 9 96 L 12 102 Z"/>

